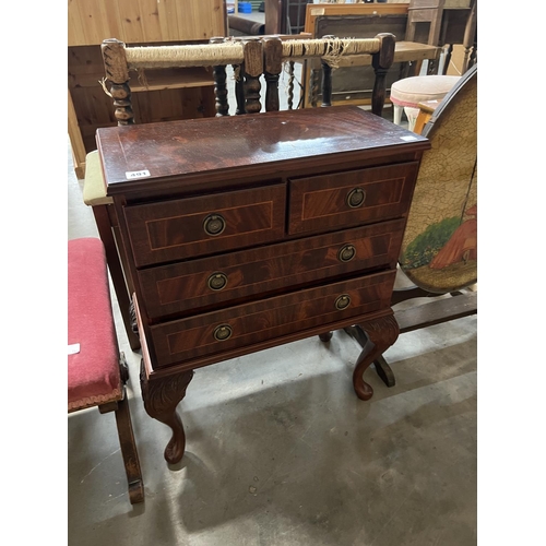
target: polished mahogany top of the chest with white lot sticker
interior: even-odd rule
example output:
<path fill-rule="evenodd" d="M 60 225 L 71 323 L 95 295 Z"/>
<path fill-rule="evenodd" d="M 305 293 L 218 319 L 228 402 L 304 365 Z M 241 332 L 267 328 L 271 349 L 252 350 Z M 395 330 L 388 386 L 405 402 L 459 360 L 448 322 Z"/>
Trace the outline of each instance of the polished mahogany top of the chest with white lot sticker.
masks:
<path fill-rule="evenodd" d="M 97 130 L 108 194 L 173 177 L 238 169 L 273 173 L 290 162 L 316 165 L 332 154 L 423 152 L 428 140 L 356 106 L 307 108 Z M 271 175 L 272 176 L 272 175 Z"/>

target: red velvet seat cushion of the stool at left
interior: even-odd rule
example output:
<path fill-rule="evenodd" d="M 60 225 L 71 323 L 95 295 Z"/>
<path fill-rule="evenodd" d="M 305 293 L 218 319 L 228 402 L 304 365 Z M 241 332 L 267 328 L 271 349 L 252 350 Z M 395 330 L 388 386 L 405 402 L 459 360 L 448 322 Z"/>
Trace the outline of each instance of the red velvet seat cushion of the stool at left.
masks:
<path fill-rule="evenodd" d="M 100 239 L 68 241 L 69 413 L 122 399 L 107 272 Z"/>

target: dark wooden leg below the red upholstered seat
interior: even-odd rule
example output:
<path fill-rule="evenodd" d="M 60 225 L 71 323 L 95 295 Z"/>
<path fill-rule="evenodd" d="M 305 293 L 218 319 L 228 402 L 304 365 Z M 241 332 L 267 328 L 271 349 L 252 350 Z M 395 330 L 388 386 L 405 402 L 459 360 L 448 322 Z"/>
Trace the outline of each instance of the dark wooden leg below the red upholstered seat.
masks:
<path fill-rule="evenodd" d="M 144 484 L 140 467 L 136 442 L 134 441 L 131 414 L 129 413 L 129 401 L 127 395 L 118 402 L 116 410 L 116 425 L 118 426 L 119 444 L 126 466 L 127 482 L 129 484 L 129 500 L 131 505 L 144 500 Z"/>

